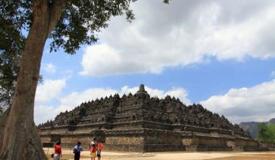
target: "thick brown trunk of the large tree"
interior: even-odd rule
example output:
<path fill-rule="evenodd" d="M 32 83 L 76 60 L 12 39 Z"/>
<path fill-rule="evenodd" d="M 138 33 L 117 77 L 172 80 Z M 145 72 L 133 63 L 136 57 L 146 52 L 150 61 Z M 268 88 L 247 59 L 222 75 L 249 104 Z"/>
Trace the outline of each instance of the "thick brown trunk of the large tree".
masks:
<path fill-rule="evenodd" d="M 50 7 L 48 0 L 33 2 L 32 26 L 22 53 L 15 97 L 0 120 L 0 160 L 46 160 L 33 114 L 43 48 L 50 24 L 58 21 L 51 20 Z"/>

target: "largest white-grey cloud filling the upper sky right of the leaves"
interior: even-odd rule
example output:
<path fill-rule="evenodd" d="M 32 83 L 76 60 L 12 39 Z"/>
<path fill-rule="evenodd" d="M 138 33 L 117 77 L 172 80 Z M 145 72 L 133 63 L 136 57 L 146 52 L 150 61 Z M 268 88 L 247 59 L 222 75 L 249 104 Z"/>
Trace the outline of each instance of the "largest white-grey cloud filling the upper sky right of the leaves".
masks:
<path fill-rule="evenodd" d="M 160 73 L 167 67 L 275 56 L 272 0 L 137 1 L 136 19 L 113 18 L 86 48 L 82 74 Z"/>

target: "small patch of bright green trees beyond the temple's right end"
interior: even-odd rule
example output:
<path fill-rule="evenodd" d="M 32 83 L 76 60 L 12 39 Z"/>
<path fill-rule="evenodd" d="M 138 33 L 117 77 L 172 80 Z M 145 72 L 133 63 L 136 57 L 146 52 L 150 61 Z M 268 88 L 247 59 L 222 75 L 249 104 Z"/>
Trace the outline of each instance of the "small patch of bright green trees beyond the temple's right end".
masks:
<path fill-rule="evenodd" d="M 275 142 L 275 124 L 259 124 L 257 139 L 263 142 Z"/>

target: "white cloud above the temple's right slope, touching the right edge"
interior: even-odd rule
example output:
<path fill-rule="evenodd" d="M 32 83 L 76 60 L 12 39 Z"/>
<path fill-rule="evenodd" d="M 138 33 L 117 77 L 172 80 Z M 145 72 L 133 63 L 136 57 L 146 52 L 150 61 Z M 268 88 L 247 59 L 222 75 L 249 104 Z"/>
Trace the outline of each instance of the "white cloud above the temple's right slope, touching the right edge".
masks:
<path fill-rule="evenodd" d="M 201 103 L 234 122 L 267 121 L 275 117 L 275 80 L 250 88 L 230 89 Z"/>

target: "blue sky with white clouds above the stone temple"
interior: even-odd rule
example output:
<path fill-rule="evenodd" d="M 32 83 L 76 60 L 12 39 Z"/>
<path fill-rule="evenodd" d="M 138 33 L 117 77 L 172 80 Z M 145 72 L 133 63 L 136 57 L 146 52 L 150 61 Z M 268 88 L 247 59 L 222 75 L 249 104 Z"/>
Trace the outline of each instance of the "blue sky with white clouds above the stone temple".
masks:
<path fill-rule="evenodd" d="M 44 49 L 35 122 L 135 93 L 201 103 L 231 122 L 275 118 L 275 1 L 139 0 L 75 55 Z"/>

